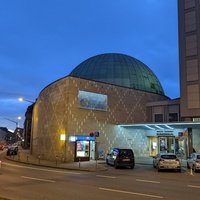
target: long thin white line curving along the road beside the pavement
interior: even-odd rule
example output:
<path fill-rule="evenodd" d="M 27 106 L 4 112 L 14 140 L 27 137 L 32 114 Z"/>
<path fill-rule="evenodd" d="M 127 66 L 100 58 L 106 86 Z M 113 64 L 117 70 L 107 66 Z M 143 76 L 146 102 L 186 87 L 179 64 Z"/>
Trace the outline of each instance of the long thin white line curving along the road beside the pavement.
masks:
<path fill-rule="evenodd" d="M 4 162 L 4 165 L 8 165 L 8 166 L 12 166 L 12 167 L 18 167 L 18 168 L 24 168 L 24 169 L 45 171 L 45 172 L 56 172 L 56 173 L 62 173 L 62 174 L 76 174 L 76 175 L 81 174 L 81 173 L 78 173 L 78 172 L 69 172 L 69 171 L 61 171 L 61 170 L 53 170 L 53 169 L 44 169 L 44 168 L 39 168 L 39 167 L 27 167 L 27 166 L 15 165 L 15 164 L 10 164 L 10 163 L 5 163 L 5 162 Z"/>

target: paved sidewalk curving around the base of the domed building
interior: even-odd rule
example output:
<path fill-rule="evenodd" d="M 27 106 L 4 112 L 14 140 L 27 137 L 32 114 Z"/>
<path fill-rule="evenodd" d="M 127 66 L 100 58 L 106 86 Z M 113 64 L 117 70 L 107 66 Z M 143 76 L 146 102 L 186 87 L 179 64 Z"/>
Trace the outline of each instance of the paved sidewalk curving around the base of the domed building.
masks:
<path fill-rule="evenodd" d="M 80 162 L 63 162 L 60 160 L 48 161 L 42 160 L 39 157 L 35 157 L 30 154 L 29 150 L 20 149 L 18 154 L 15 156 L 6 156 L 6 150 L 3 153 L 4 157 L 8 160 L 15 162 L 20 162 L 24 164 L 51 167 L 58 169 L 68 169 L 68 170 L 81 170 L 81 171 L 105 171 L 108 170 L 105 160 L 90 160 L 90 161 L 80 161 Z M 152 157 L 135 157 L 136 165 L 151 165 Z M 186 167 L 186 161 L 182 160 L 182 166 Z"/>

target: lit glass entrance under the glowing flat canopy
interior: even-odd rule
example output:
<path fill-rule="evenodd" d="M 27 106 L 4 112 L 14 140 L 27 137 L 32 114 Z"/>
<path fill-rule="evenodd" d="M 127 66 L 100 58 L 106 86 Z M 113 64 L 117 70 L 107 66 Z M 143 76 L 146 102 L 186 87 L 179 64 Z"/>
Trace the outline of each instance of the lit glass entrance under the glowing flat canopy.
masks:
<path fill-rule="evenodd" d="M 133 124 L 121 125 L 127 133 L 140 132 L 146 137 L 146 143 L 135 140 L 140 144 L 139 156 L 155 156 L 158 153 L 175 153 L 187 158 L 192 152 L 200 152 L 199 123 L 166 123 L 166 124 Z M 132 146 L 134 149 L 134 146 Z M 142 150 L 146 149 L 143 155 Z"/>

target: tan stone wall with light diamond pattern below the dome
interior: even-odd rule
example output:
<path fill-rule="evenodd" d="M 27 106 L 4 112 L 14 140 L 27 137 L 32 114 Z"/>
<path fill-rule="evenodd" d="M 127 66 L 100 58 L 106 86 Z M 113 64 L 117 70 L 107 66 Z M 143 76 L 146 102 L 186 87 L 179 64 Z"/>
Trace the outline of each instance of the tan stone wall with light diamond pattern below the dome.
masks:
<path fill-rule="evenodd" d="M 78 92 L 107 95 L 107 111 L 83 109 Z M 148 138 L 144 131 L 127 131 L 118 124 L 147 122 L 146 103 L 167 97 L 74 77 L 64 77 L 44 88 L 34 106 L 32 146 L 34 155 L 43 159 L 74 160 L 74 143 L 60 140 L 60 134 L 89 135 L 99 131 L 98 148 L 105 153 L 111 147 L 133 148 L 136 155 L 148 155 Z M 141 147 L 142 146 L 142 147 Z"/>

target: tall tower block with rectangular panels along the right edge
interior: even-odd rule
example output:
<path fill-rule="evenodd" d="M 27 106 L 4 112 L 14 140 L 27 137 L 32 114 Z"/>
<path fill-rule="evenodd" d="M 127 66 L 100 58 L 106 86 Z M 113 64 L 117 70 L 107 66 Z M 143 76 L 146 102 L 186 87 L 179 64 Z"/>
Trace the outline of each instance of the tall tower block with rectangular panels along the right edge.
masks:
<path fill-rule="evenodd" d="M 180 111 L 200 121 L 200 0 L 178 0 Z"/>

